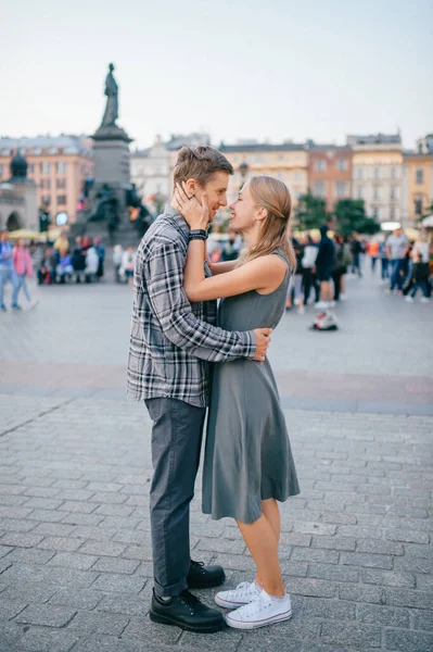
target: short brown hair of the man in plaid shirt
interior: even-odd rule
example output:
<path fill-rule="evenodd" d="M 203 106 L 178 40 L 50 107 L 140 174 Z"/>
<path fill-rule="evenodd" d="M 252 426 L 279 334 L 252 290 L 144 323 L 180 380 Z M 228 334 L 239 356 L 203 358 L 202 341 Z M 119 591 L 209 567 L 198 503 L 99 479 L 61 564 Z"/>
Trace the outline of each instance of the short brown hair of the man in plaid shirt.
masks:
<path fill-rule="evenodd" d="M 182 147 L 177 158 L 174 181 L 180 184 L 195 179 L 203 187 L 216 172 L 233 174 L 233 166 L 217 149 L 208 146 L 194 149 Z"/>

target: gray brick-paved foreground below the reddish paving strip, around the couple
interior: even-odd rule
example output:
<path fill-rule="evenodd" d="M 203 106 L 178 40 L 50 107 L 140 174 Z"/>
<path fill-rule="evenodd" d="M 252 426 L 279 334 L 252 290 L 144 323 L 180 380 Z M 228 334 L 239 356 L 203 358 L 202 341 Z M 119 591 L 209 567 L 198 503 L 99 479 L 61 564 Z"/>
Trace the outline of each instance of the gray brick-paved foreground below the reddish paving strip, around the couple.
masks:
<path fill-rule="evenodd" d="M 431 417 L 286 411 L 302 487 L 281 507 L 293 619 L 204 637 L 147 615 L 143 406 L 1 396 L 0 410 L 1 652 L 432 649 Z M 201 513 L 200 494 L 199 478 L 192 554 L 221 563 L 234 587 L 251 557 L 231 521 Z"/>

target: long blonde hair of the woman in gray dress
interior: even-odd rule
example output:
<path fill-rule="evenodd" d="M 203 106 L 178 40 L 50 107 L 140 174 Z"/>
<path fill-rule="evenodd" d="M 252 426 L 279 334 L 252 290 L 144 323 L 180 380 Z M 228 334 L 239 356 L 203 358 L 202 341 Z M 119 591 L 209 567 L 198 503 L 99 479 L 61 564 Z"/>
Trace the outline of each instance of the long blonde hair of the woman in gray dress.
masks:
<path fill-rule="evenodd" d="M 238 265 L 281 249 L 293 273 L 296 267 L 296 255 L 289 236 L 292 213 L 289 188 L 279 179 L 264 175 L 252 177 L 249 186 L 254 203 L 266 209 L 268 215 L 262 224 L 258 242 L 252 249 L 242 252 Z"/>

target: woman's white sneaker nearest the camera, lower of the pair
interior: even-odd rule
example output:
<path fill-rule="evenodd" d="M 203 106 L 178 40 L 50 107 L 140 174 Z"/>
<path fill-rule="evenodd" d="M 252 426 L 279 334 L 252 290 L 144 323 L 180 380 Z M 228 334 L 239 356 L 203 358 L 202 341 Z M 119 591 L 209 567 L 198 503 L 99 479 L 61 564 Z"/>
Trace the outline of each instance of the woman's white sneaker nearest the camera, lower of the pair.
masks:
<path fill-rule="evenodd" d="M 226 623 L 234 629 L 256 629 L 272 623 L 289 620 L 291 617 L 292 605 L 289 594 L 285 594 L 281 600 L 276 600 L 268 595 L 266 591 L 262 591 L 250 604 L 244 604 L 227 614 Z"/>

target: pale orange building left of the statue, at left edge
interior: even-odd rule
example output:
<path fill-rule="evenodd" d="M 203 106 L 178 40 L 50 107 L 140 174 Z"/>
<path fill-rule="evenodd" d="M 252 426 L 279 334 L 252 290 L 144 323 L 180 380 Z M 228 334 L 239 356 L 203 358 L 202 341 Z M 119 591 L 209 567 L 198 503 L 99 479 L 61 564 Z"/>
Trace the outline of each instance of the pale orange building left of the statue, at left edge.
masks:
<path fill-rule="evenodd" d="M 0 138 L 0 181 L 7 179 L 17 151 L 27 160 L 38 206 L 49 212 L 52 224 L 60 213 L 74 223 L 85 179 L 93 177 L 91 140 L 79 136 Z"/>

